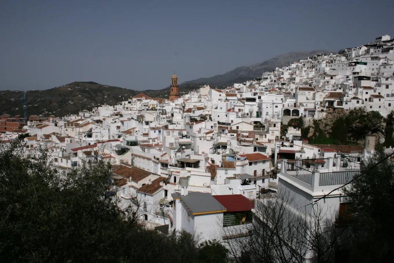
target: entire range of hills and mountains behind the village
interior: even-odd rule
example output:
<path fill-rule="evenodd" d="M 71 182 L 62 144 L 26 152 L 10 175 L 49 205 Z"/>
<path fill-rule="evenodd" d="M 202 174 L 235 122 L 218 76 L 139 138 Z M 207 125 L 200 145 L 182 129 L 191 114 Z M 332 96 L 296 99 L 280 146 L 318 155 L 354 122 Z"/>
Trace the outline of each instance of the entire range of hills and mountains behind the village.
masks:
<path fill-rule="evenodd" d="M 246 80 L 261 77 L 264 72 L 273 71 L 276 67 L 283 67 L 310 56 L 330 53 L 333 52 L 327 50 L 290 52 L 273 57 L 262 63 L 238 67 L 221 75 L 183 82 L 179 85 L 179 94 L 183 95 L 206 84 L 212 88 L 223 89 L 234 83 L 243 83 Z M 169 87 L 142 92 L 152 98 L 166 98 L 169 95 Z M 27 114 L 28 116 L 32 114 L 64 116 L 84 109 L 89 110 L 102 104 L 114 105 L 139 93 L 141 91 L 102 85 L 93 81 L 75 81 L 52 89 L 27 91 Z M 20 100 L 21 97 L 23 97 L 22 91 L 1 91 L 0 115 L 7 113 L 12 116 L 23 116 L 23 101 Z"/>

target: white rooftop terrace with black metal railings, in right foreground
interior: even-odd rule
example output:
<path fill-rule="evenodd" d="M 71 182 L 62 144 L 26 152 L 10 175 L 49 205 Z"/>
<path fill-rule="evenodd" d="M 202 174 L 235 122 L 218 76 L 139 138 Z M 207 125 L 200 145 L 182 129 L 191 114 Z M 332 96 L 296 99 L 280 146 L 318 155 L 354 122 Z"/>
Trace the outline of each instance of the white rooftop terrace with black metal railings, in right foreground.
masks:
<path fill-rule="evenodd" d="M 360 163 L 340 157 L 282 160 L 278 176 L 310 194 L 324 194 L 349 183 L 360 170 Z"/>

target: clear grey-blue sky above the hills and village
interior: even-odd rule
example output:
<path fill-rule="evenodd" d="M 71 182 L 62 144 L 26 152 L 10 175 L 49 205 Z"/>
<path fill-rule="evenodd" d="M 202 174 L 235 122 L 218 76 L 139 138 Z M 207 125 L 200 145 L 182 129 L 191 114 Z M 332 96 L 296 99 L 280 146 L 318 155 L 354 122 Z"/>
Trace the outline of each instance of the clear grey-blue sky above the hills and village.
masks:
<path fill-rule="evenodd" d="M 291 51 L 394 37 L 394 1 L 3 0 L 0 89 L 162 89 Z"/>

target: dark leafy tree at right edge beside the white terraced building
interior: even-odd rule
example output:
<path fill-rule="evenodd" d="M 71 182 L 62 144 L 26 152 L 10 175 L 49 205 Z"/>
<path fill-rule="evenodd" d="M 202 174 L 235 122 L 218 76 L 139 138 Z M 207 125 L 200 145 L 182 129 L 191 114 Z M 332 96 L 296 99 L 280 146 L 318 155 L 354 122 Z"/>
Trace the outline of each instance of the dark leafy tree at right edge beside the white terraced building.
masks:
<path fill-rule="evenodd" d="M 383 149 L 362 164 L 362 176 L 343 191 L 349 196 L 350 257 L 354 262 L 388 262 L 394 257 L 394 163 Z"/>

